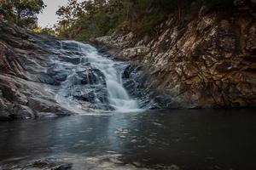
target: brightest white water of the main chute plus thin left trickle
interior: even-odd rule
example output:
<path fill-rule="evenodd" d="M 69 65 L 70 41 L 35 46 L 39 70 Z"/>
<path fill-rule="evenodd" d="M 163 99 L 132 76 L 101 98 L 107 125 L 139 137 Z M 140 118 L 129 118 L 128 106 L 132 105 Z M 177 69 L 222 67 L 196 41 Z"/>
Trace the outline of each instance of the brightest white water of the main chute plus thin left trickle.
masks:
<path fill-rule="evenodd" d="M 137 100 L 131 99 L 129 94 L 126 92 L 122 84 L 121 72 L 117 71 L 115 65 L 121 65 L 119 62 L 115 62 L 112 59 L 107 59 L 98 54 L 96 48 L 90 46 L 89 44 L 84 44 L 81 42 L 75 41 L 65 41 L 65 43 L 74 43 L 78 46 L 79 53 L 83 54 L 81 59 L 84 58 L 87 63 L 93 68 L 98 69 L 105 76 L 107 90 L 108 90 L 108 102 L 116 111 L 120 112 L 129 112 L 129 111 L 138 111 L 139 107 L 137 105 Z M 77 65 L 81 67 L 83 65 Z M 62 83 L 62 86 L 65 87 L 65 84 L 70 85 L 70 80 L 73 76 L 69 76 L 67 81 Z M 67 90 L 63 88 L 63 90 Z M 61 93 L 62 94 L 62 93 Z M 63 105 L 65 104 L 68 108 L 72 108 L 73 102 L 68 102 L 67 99 L 63 99 L 58 95 L 58 101 Z M 68 99 L 69 100 L 69 99 Z M 62 102 L 61 102 L 62 101 Z"/>

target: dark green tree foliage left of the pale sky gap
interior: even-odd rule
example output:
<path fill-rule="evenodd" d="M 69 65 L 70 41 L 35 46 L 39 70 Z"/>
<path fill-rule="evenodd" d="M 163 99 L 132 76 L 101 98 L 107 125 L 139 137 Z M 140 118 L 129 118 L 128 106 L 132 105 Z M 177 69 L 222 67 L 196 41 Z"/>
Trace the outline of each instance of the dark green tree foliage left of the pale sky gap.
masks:
<path fill-rule="evenodd" d="M 43 0 L 0 0 L 0 14 L 3 18 L 26 28 L 37 26 L 36 15 L 44 7 Z"/>

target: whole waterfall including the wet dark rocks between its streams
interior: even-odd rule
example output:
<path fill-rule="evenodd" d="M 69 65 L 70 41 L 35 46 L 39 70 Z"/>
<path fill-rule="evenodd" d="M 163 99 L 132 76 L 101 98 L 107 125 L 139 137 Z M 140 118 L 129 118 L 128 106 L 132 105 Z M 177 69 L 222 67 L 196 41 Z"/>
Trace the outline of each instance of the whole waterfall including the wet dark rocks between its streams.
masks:
<path fill-rule="evenodd" d="M 103 57 L 89 44 L 63 41 L 52 62 L 53 72 L 66 74 L 55 99 L 68 110 L 139 110 L 137 100 L 130 98 L 122 84 L 124 64 Z"/>

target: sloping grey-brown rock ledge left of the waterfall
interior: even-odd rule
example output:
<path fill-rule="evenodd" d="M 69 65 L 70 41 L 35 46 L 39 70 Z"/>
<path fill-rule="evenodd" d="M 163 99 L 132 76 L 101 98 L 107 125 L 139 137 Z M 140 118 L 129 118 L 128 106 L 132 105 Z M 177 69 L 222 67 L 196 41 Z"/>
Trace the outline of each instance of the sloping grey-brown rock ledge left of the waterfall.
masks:
<path fill-rule="evenodd" d="M 73 114 L 44 90 L 51 52 L 35 42 L 46 39 L 0 20 L 0 121 Z"/>

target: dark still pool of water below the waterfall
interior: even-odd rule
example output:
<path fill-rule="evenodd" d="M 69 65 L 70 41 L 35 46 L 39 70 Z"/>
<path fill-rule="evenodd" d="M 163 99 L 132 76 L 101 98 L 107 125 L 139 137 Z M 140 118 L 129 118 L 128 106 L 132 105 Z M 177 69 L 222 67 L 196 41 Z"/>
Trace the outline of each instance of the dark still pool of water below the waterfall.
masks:
<path fill-rule="evenodd" d="M 75 169 L 88 165 L 88 160 L 95 164 L 111 161 L 107 167 L 165 168 L 174 164 L 193 170 L 256 169 L 255 145 L 253 109 L 145 111 L 0 122 L 0 166 L 57 157 L 72 161 Z"/>

